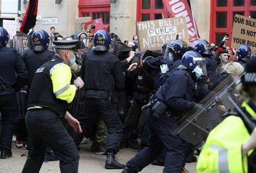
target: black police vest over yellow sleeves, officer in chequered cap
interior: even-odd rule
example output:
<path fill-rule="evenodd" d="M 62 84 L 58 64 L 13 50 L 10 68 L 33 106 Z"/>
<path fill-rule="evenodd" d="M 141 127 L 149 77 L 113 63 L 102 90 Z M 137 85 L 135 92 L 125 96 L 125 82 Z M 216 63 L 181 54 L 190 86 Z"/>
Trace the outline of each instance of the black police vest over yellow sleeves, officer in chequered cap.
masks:
<path fill-rule="evenodd" d="M 36 70 L 30 88 L 27 107 L 40 106 L 54 111 L 58 115 L 65 115 L 68 103 L 56 98 L 53 93 L 53 85 L 50 70 L 61 61 L 49 61 Z"/>

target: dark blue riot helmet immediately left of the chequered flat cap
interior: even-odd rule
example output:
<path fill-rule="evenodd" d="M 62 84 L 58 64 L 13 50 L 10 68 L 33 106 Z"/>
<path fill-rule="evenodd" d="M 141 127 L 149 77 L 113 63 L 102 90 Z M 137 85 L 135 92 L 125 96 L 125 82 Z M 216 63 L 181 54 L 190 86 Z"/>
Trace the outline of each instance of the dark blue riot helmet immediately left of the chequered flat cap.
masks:
<path fill-rule="evenodd" d="M 36 52 L 43 52 L 49 46 L 50 37 L 44 30 L 36 30 L 31 37 L 33 50 Z"/>

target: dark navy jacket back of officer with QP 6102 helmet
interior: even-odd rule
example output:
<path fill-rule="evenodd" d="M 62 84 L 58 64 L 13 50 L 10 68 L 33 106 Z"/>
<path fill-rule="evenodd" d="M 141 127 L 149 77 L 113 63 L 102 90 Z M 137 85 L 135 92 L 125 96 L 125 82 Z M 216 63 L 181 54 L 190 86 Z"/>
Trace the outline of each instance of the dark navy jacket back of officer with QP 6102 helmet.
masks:
<path fill-rule="evenodd" d="M 84 54 L 82 79 L 85 90 L 125 91 L 125 76 L 120 60 L 109 52 L 90 51 Z"/>

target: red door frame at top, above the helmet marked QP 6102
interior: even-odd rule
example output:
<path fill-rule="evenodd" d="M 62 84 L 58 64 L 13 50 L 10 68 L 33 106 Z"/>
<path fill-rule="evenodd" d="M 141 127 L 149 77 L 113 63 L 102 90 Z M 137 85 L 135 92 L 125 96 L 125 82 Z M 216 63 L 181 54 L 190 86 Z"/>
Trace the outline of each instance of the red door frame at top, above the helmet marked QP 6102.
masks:
<path fill-rule="evenodd" d="M 110 1 L 109 0 L 80 0 L 79 17 L 91 16 L 92 19 L 102 18 L 104 29 L 109 31 Z"/>

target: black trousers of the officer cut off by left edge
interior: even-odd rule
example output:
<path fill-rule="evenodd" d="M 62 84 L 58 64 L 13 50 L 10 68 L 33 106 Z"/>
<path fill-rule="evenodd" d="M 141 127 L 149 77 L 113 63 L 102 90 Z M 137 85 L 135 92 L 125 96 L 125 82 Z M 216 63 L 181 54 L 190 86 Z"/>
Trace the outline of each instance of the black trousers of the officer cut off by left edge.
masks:
<path fill-rule="evenodd" d="M 2 94 L 0 91 L 1 125 L 0 147 L 10 150 L 12 148 L 12 137 L 15 127 L 18 125 L 19 107 L 15 92 Z"/>

